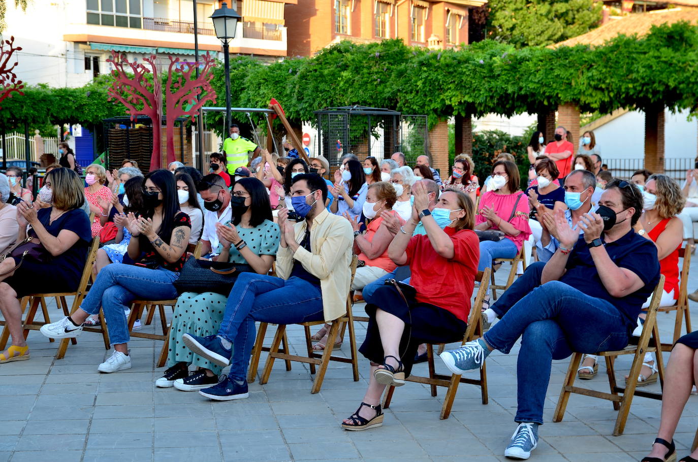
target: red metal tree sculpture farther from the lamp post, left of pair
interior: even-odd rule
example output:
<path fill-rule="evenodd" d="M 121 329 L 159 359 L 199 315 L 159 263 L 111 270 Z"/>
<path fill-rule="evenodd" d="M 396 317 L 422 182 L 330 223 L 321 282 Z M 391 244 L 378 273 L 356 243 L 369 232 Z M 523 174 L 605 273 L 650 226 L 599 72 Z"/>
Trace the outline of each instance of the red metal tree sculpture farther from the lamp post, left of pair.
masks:
<path fill-rule="evenodd" d="M 155 64 L 155 56 L 144 58 L 148 64 L 140 64 L 136 61 L 128 61 L 126 54 L 112 51 L 112 56 L 107 63 L 114 65 L 112 75 L 114 82 L 109 88 L 108 100 L 117 100 L 126 106 L 126 113 L 131 115 L 131 120 L 136 116 L 150 117 L 153 127 L 153 153 L 150 157 L 150 168 L 154 170 L 161 167 L 161 125 L 162 125 L 162 82 Z"/>

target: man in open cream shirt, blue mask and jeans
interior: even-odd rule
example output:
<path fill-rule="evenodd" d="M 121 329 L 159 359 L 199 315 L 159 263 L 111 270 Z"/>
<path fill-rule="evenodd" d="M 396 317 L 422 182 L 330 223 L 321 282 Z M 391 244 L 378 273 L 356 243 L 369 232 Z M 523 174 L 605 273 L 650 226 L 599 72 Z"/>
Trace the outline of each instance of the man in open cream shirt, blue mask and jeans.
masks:
<path fill-rule="evenodd" d="M 214 387 L 199 390 L 202 396 L 216 401 L 249 396 L 247 367 L 256 321 L 329 322 L 346 311 L 351 279 L 351 226 L 345 218 L 325 209 L 327 185 L 317 174 L 298 175 L 291 191 L 295 212 L 304 220 L 292 225 L 288 211 L 279 211 L 279 277 L 240 274 L 228 297 L 218 335 L 184 334 L 182 338 L 187 348 L 209 362 L 221 367 L 230 364 L 228 377 Z"/>

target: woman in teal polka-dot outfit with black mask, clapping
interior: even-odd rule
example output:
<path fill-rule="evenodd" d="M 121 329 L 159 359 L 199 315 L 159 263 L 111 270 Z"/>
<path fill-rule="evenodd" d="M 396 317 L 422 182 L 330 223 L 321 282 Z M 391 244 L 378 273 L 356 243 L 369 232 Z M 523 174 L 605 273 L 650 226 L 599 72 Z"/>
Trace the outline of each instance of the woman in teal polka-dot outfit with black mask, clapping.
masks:
<path fill-rule="evenodd" d="M 272 207 L 265 186 L 258 179 L 241 179 L 232 191 L 232 216 L 227 225 L 216 223 L 221 247 L 214 258 L 217 262 L 249 265 L 253 274 L 268 274 L 279 248 L 279 227 L 272 221 Z M 246 245 L 242 245 L 242 243 Z M 237 247 L 235 246 L 237 244 Z M 241 267 L 237 266 L 240 274 Z M 177 299 L 170 329 L 168 366 L 158 387 L 175 387 L 193 392 L 218 383 L 222 366 L 195 355 L 182 341 L 184 334 L 209 336 L 218 333 L 223 320 L 223 308 L 228 297 L 214 292 L 184 292 Z M 189 373 L 193 364 L 198 371 Z"/>

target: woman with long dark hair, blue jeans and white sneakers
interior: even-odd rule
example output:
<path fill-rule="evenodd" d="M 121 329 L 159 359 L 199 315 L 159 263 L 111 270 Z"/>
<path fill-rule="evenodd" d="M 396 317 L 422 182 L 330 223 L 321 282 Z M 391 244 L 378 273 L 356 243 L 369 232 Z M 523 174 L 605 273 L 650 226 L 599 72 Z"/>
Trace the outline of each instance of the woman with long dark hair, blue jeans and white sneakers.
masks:
<path fill-rule="evenodd" d="M 179 210 L 174 175 L 154 170 L 143 179 L 141 216 L 128 214 L 128 230 L 135 239 L 128 243 L 128 258 L 133 264 L 109 264 L 100 271 L 82 301 L 80 309 L 69 317 L 41 327 L 49 338 L 71 338 L 82 333 L 82 323 L 103 309 L 113 354 L 97 368 L 116 372 L 131 368 L 128 355 L 126 310 L 131 301 L 172 299 L 177 297 L 174 281 L 186 260 L 191 234 L 189 216 Z"/>

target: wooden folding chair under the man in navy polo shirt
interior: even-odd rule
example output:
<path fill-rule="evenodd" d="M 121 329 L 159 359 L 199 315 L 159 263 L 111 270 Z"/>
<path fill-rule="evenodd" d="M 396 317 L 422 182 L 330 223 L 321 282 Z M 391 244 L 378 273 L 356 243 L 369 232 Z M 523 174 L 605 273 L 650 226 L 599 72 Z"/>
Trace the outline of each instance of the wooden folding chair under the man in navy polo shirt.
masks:
<path fill-rule="evenodd" d="M 577 368 L 579 368 L 579 362 L 581 362 L 584 354 L 581 352 L 575 352 L 572 354 L 572 360 L 570 361 L 570 367 L 567 368 L 567 375 L 565 375 L 565 381 L 563 382 L 563 388 L 560 392 L 558 405 L 555 409 L 553 422 L 562 421 L 563 417 L 565 416 L 567 401 L 570 399 L 570 394 L 572 393 L 593 396 L 594 398 L 607 399 L 613 402 L 614 409 L 618 411 L 616 426 L 613 431 L 614 436 L 618 436 L 622 435 L 623 430 L 625 429 L 625 422 L 628 420 L 628 414 L 630 413 L 630 405 L 632 404 L 633 396 L 662 399 L 661 394 L 640 391 L 636 389 L 636 385 L 640 368 L 642 367 L 642 362 L 644 361 L 645 353 L 657 352 L 658 354 L 656 356 L 659 380 L 662 389 L 664 388 L 664 361 L 662 359 L 662 346 L 659 338 L 659 329 L 657 327 L 657 308 L 659 306 L 660 299 L 662 299 L 663 289 L 664 276 L 661 276 L 659 284 L 653 292 L 652 300 L 647 310 L 647 318 L 642 327 L 642 334 L 640 335 L 637 345 L 628 345 L 628 347 L 620 351 L 602 351 L 594 353 L 597 356 L 603 356 L 606 358 L 606 369 L 609 377 L 609 387 L 611 388 L 610 393 L 574 387 L 574 379 L 577 378 Z M 634 355 L 632 359 L 632 366 L 630 367 L 630 373 L 628 374 L 629 379 L 626 382 L 626 387 L 618 387 L 618 385 L 616 385 L 614 361 L 616 357 L 620 355 Z"/>

